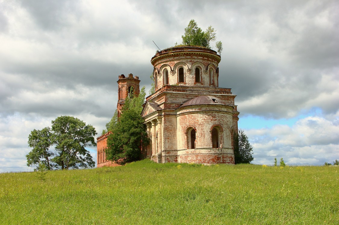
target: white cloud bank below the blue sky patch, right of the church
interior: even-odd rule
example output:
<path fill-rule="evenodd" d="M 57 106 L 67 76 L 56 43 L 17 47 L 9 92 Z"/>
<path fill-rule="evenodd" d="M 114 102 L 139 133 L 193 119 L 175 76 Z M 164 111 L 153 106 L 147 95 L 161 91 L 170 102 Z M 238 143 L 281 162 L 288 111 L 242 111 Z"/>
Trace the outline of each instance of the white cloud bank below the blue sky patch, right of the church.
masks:
<path fill-rule="evenodd" d="M 273 164 L 275 157 L 283 157 L 291 165 L 323 165 L 339 158 L 339 124 L 322 117 L 245 133 L 253 146 L 253 163 Z"/>

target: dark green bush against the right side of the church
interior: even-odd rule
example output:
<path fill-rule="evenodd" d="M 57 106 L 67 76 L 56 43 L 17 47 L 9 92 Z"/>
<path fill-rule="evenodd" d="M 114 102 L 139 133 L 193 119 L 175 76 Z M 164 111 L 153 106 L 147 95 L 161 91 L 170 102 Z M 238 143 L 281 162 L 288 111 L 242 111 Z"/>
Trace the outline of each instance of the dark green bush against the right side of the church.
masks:
<path fill-rule="evenodd" d="M 242 129 L 239 129 L 238 133 L 233 135 L 234 138 L 234 160 L 235 164 L 239 163 L 251 163 L 254 159 L 253 148 L 248 141 L 247 135 Z"/>

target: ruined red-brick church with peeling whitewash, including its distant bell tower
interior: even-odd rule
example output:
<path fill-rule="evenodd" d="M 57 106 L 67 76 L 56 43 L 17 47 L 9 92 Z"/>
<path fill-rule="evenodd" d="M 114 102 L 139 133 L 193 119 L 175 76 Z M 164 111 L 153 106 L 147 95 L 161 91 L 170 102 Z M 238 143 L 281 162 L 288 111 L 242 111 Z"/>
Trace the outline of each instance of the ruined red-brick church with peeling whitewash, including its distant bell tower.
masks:
<path fill-rule="evenodd" d="M 237 106 L 230 88 L 218 86 L 220 55 L 203 47 L 173 47 L 152 57 L 155 93 L 146 97 L 141 113 L 149 146 L 145 157 L 157 163 L 234 164 L 233 134 L 238 133 Z M 118 114 L 139 77 L 119 76 Z M 109 133 L 97 138 L 97 166 L 115 165 L 105 159 Z"/>

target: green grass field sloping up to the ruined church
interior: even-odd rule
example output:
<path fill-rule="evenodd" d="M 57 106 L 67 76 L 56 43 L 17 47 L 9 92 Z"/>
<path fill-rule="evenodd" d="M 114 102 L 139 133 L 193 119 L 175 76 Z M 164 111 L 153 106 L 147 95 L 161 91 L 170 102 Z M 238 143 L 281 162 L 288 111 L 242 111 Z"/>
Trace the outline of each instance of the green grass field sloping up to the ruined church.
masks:
<path fill-rule="evenodd" d="M 0 224 L 339 224 L 339 167 L 156 164 L 0 174 Z"/>

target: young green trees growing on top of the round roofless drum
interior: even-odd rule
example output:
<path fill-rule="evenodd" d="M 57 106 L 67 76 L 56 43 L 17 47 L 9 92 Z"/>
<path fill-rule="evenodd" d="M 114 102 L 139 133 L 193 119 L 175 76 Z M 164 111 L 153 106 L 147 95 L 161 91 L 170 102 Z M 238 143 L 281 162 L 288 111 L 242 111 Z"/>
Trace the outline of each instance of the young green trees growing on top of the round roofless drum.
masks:
<path fill-rule="evenodd" d="M 181 38 L 183 45 L 196 45 L 211 48 L 211 41 L 215 41 L 217 36 L 215 29 L 212 26 L 209 26 L 205 31 L 202 31 L 195 20 L 191 20 L 185 28 L 185 35 L 182 35 Z M 217 49 L 220 54 L 222 50 L 221 42 L 217 42 Z"/>

